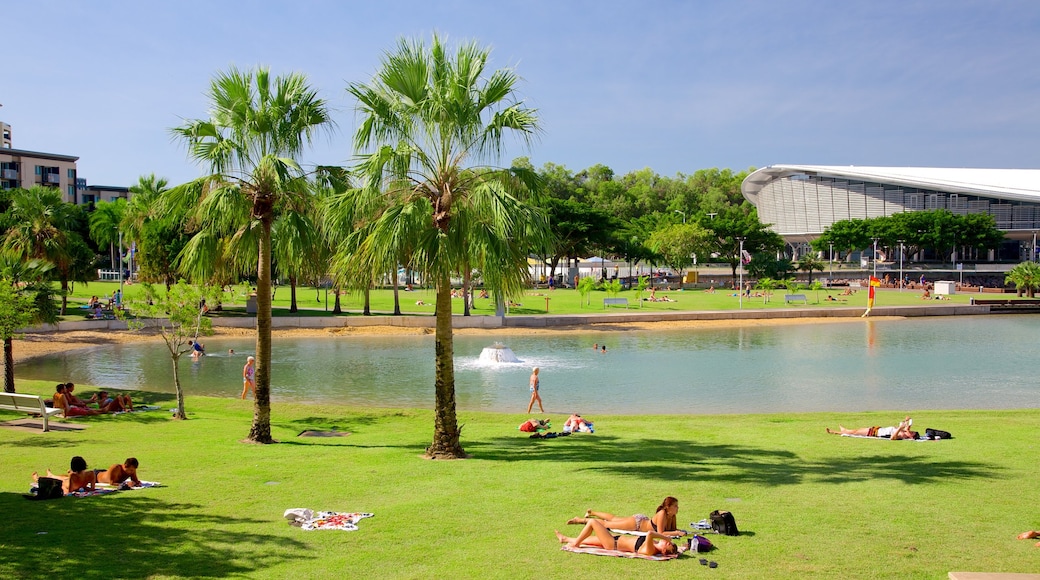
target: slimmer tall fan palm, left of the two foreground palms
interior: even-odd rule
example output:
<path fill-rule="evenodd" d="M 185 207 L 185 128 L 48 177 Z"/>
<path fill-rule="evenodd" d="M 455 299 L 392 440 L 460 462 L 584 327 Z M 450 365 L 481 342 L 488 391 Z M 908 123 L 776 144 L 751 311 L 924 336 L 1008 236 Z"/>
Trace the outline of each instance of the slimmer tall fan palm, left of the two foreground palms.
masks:
<path fill-rule="evenodd" d="M 304 75 L 272 78 L 266 68 L 218 74 L 208 97 L 210 117 L 173 129 L 193 159 L 210 175 L 165 194 L 173 207 L 190 207 L 199 233 L 182 255 L 215 257 L 226 243 L 227 264 L 239 264 L 256 242 L 257 346 L 256 401 L 249 440 L 274 443 L 270 437 L 271 228 L 287 206 L 307 193 L 309 184 L 297 157 L 315 134 L 332 129 L 324 100 Z M 229 235 L 230 241 L 223 238 Z M 198 242 L 197 242 L 198 240 Z M 214 270 L 215 271 L 215 270 Z M 198 270 L 197 270 L 198 272 Z"/>

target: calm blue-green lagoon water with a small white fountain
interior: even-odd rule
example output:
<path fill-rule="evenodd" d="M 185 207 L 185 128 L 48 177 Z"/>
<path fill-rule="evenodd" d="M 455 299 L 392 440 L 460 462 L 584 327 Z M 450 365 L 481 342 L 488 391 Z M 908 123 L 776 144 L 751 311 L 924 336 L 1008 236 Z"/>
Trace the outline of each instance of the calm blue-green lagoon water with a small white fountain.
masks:
<path fill-rule="evenodd" d="M 541 367 L 550 413 L 725 414 L 1040 406 L 1040 317 L 851 320 L 684 331 L 456 337 L 461 411 L 523 412 Z M 489 364 L 500 341 L 520 363 Z M 235 396 L 250 339 L 181 361 L 188 395 Z M 593 351 L 605 344 L 606 353 Z M 275 339 L 272 399 L 432 408 L 432 336 Z M 16 343 L 15 347 L 18 345 Z M 236 354 L 228 355 L 234 348 Z M 20 378 L 173 392 L 159 339 L 17 366 Z"/>

